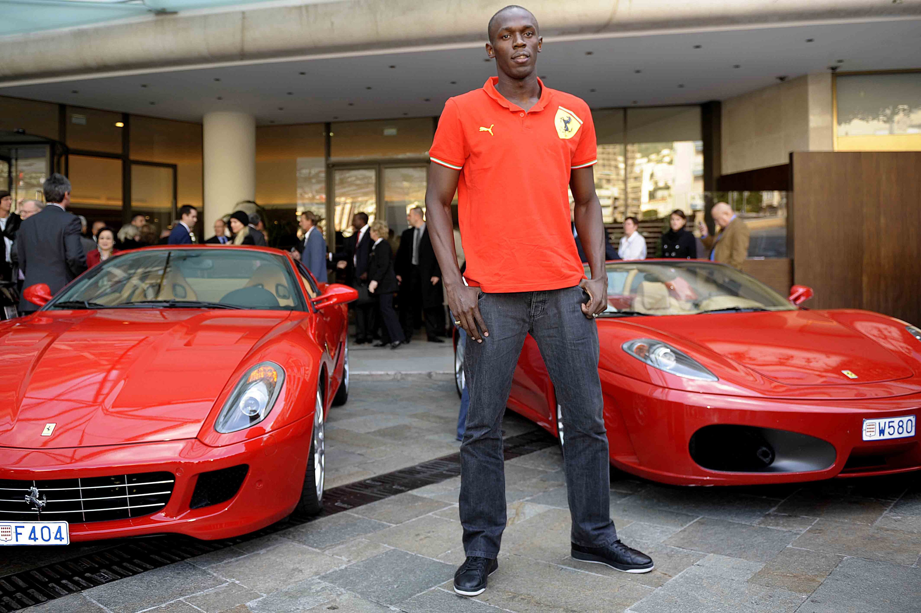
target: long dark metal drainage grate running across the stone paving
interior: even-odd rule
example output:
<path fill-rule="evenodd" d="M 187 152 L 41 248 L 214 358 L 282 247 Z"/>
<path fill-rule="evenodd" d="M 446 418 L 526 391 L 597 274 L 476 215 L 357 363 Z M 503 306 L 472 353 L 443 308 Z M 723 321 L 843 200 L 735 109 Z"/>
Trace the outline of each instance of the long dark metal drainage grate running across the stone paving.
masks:
<path fill-rule="evenodd" d="M 505 458 L 510 460 L 532 454 L 554 444 L 555 439 L 543 430 L 511 436 L 505 440 Z M 440 483 L 460 474 L 461 454 L 450 454 L 328 489 L 323 494 L 323 511 L 317 517 L 342 513 L 412 489 Z M 64 595 L 109 584 L 122 577 L 152 571 L 173 562 L 188 560 L 253 538 L 271 535 L 295 525 L 306 524 L 312 519 L 315 518 L 291 515 L 262 530 L 219 541 L 202 541 L 179 535 L 114 541 L 110 548 L 85 556 L 0 577 L 0 613 L 11 613 L 40 605 Z"/>

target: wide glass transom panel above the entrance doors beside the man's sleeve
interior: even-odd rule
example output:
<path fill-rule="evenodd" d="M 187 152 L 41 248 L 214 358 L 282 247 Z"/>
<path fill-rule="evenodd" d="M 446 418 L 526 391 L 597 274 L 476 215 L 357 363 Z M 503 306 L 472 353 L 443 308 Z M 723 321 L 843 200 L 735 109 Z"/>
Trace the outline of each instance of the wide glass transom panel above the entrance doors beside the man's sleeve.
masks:
<path fill-rule="evenodd" d="M 431 117 L 332 124 L 332 159 L 422 158 L 435 136 Z"/>

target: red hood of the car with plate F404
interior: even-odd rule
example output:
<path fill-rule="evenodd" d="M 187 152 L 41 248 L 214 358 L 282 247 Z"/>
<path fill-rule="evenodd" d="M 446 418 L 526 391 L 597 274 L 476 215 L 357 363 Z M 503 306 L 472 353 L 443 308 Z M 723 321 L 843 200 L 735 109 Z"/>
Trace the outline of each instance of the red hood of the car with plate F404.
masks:
<path fill-rule="evenodd" d="M 0 328 L 0 446 L 193 438 L 240 360 L 289 316 L 120 309 L 40 312 L 8 324 Z"/>

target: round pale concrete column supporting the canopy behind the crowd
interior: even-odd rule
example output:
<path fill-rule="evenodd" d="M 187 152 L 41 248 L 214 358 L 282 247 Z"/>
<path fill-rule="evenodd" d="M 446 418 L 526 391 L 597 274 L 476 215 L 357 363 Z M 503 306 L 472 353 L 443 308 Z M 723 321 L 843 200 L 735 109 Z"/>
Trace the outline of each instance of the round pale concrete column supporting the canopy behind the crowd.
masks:
<path fill-rule="evenodd" d="M 204 235 L 240 200 L 256 197 L 256 118 L 247 112 L 204 115 Z"/>

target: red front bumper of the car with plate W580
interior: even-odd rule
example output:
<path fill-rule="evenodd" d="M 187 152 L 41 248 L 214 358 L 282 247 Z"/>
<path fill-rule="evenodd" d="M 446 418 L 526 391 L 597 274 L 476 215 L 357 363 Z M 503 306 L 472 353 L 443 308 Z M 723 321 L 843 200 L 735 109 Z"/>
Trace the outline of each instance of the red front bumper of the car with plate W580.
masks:
<path fill-rule="evenodd" d="M 918 435 L 863 441 L 865 418 L 921 416 L 921 395 L 868 400 L 776 400 L 684 392 L 600 371 L 604 418 L 614 466 L 675 485 L 753 485 L 866 477 L 921 470 Z M 737 425 L 797 432 L 830 443 L 834 461 L 822 470 L 708 470 L 692 458 L 694 433 Z"/>

